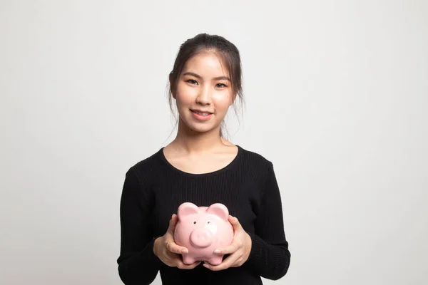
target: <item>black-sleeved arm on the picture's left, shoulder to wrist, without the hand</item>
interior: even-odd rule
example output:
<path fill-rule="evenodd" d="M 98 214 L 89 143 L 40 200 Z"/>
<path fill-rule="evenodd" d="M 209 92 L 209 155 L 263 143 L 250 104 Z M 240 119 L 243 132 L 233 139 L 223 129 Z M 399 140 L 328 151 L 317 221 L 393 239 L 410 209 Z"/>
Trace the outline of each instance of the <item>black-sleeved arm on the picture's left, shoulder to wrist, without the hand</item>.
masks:
<path fill-rule="evenodd" d="M 121 254 L 118 273 L 123 284 L 151 284 L 163 264 L 153 252 L 148 229 L 150 197 L 133 168 L 126 172 L 121 196 Z"/>

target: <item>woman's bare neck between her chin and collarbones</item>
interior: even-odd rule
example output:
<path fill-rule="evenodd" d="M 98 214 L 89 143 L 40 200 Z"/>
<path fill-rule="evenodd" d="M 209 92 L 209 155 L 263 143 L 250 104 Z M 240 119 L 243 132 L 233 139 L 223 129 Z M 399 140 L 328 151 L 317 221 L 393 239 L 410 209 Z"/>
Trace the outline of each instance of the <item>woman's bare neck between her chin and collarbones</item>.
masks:
<path fill-rule="evenodd" d="M 220 126 L 208 132 L 200 133 L 188 128 L 181 120 L 178 122 L 178 132 L 172 142 L 185 152 L 204 152 L 215 147 L 230 145 L 230 142 L 220 137 Z"/>

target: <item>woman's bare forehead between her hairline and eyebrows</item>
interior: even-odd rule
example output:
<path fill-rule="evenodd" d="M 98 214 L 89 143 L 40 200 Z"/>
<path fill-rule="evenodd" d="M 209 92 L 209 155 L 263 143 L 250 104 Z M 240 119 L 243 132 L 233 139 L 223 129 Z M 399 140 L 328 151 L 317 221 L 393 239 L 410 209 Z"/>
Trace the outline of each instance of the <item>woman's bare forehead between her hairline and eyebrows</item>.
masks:
<path fill-rule="evenodd" d="M 203 51 L 186 61 L 183 72 L 191 71 L 200 76 L 228 76 L 228 68 L 215 51 Z"/>

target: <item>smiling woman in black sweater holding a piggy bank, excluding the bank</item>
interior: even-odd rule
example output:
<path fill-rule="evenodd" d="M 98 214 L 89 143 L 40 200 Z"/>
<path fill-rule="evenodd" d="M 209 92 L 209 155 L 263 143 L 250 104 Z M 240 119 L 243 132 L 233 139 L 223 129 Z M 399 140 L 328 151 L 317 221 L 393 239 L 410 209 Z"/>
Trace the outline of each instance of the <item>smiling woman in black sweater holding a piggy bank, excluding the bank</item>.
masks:
<path fill-rule="evenodd" d="M 124 284 L 262 284 L 290 264 L 282 204 L 272 163 L 223 138 L 223 119 L 242 98 L 240 55 L 225 38 L 199 34 L 180 46 L 170 76 L 178 133 L 169 145 L 126 173 L 121 197 Z M 220 265 L 183 264 L 188 249 L 173 242 L 183 202 L 222 203 L 234 238 Z M 216 251 L 217 252 L 217 251 Z"/>

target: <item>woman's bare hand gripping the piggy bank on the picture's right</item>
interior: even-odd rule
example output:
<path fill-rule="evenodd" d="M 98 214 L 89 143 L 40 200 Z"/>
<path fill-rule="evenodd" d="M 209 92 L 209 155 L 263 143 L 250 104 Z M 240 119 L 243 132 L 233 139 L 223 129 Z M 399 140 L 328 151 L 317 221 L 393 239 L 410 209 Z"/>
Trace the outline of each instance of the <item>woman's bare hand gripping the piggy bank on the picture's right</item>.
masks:
<path fill-rule="evenodd" d="M 234 236 L 233 242 L 228 247 L 223 249 L 216 249 L 216 254 L 230 254 L 226 259 L 222 261 L 221 264 L 211 265 L 208 263 L 203 264 L 206 268 L 218 271 L 223 269 L 228 269 L 229 267 L 238 267 L 241 266 L 247 261 L 251 252 L 251 237 L 243 227 L 236 217 L 229 216 L 229 222 L 233 226 Z"/>

